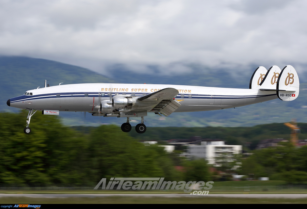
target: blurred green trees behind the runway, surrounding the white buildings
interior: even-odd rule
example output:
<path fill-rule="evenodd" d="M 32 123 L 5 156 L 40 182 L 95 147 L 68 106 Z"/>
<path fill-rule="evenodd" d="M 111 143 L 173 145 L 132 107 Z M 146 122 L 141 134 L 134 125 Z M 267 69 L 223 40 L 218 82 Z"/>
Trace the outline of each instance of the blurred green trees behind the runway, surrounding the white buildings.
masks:
<path fill-rule="evenodd" d="M 169 138 L 179 137 L 173 127 L 148 129 L 148 133 L 153 135 L 152 138 L 146 136 L 147 139 L 158 140 L 158 144 L 146 146 L 138 137 L 120 131 L 116 125 L 71 128 L 64 126 L 53 115 L 35 114 L 31 119 L 32 132 L 27 135 L 23 132 L 26 117 L 27 111 L 0 113 L 0 186 L 94 187 L 101 178 L 111 177 L 220 181 L 227 179 L 217 178 L 216 175 L 249 176 L 251 173 L 254 178 L 270 177 L 271 180 L 289 183 L 307 181 L 307 146 L 297 148 L 284 143 L 278 147 L 250 150 L 252 155 L 238 155 L 233 162 L 216 167 L 216 170 L 224 173 L 216 174 L 210 172 L 212 166 L 204 159 L 183 158 L 179 156 L 179 150 L 167 153 L 158 146 L 168 139 L 159 138 L 161 133 L 168 133 L 165 135 Z M 209 128 L 181 128 L 180 133 L 182 138 L 186 138 L 201 133 L 202 129 L 204 135 L 201 136 L 244 145 L 246 139 L 261 140 L 274 133 L 289 137 L 289 130 L 281 125 L 216 127 L 211 132 L 208 132 Z M 301 135 L 304 136 L 307 126 L 298 125 L 302 127 Z M 280 130 L 274 130 L 274 127 Z M 195 129 L 194 132 L 191 129 Z"/>

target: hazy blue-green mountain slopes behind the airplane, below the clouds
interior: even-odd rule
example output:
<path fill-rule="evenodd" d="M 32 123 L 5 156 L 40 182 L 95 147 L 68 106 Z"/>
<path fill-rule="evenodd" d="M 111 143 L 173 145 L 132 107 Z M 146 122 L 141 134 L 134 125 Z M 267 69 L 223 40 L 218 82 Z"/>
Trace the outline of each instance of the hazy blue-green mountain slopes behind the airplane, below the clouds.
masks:
<path fill-rule="evenodd" d="M 110 69 L 109 69 L 110 70 Z M 113 69 L 114 70 L 114 69 Z M 202 71 L 206 70 L 206 71 Z M 204 66 L 196 66 L 192 76 L 163 77 L 146 73 L 133 73 L 127 69 L 117 69 L 112 72 L 114 78 L 108 78 L 89 69 L 69 65 L 56 61 L 26 58 L 26 57 L 0 57 L 0 111 L 16 112 L 18 109 L 6 105 L 9 98 L 22 95 L 29 89 L 43 86 L 48 80 L 50 85 L 73 83 L 166 83 L 182 85 L 216 86 L 229 88 L 248 88 L 253 69 L 247 69 L 245 73 L 229 73 L 227 69 L 214 71 L 204 69 Z M 122 76 L 116 78 L 116 73 Z M 190 72 L 191 73 L 191 72 Z M 200 74 L 203 74 L 202 76 Z M 129 78 L 125 80 L 125 75 Z M 182 75 L 182 74 L 181 74 Z M 126 77 L 128 77 L 126 76 Z M 144 78 L 146 77 L 145 82 Z M 176 79 L 174 79 L 176 78 Z M 126 81 L 126 82 L 125 82 Z M 205 84 L 205 85 L 204 85 Z M 217 85 L 219 84 L 219 85 Z M 237 107 L 235 109 L 224 109 L 204 112 L 173 113 L 169 117 L 159 117 L 149 114 L 146 119 L 147 126 L 184 126 L 184 127 L 205 127 L 205 126 L 253 126 L 266 124 L 268 122 L 286 122 L 297 118 L 298 122 L 307 122 L 307 84 L 301 83 L 299 97 L 292 102 L 283 102 L 279 99 L 264 103 Z M 125 122 L 123 118 L 93 117 L 89 113 L 61 112 L 60 117 L 65 125 L 101 125 L 116 124 Z M 136 125 L 139 119 L 134 119 L 131 124 Z"/>

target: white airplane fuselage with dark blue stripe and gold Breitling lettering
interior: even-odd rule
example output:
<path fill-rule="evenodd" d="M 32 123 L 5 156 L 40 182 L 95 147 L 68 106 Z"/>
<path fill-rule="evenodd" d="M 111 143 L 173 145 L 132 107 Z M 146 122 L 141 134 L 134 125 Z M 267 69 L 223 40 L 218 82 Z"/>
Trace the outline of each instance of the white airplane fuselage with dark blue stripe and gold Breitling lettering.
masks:
<path fill-rule="evenodd" d="M 175 88 L 181 106 L 175 112 L 220 110 L 277 99 L 276 91 L 259 89 L 214 88 L 166 84 L 67 84 L 27 91 L 8 100 L 20 109 L 98 112 L 95 106 L 115 95 L 143 96 L 164 88 Z M 109 94 L 109 95 L 108 95 Z M 147 108 L 147 112 L 151 108 Z"/>

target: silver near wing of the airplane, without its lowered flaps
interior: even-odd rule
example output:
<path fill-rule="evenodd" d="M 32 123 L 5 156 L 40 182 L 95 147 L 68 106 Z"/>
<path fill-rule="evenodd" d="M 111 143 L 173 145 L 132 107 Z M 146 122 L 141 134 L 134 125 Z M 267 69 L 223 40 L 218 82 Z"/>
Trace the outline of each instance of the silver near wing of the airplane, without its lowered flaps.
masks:
<path fill-rule="evenodd" d="M 173 99 L 179 94 L 179 91 L 174 88 L 164 88 L 159 91 L 155 91 L 153 93 L 147 94 L 145 96 L 141 96 L 138 98 L 139 101 L 142 102 L 152 102 L 157 103 L 159 101 L 165 99 Z"/>

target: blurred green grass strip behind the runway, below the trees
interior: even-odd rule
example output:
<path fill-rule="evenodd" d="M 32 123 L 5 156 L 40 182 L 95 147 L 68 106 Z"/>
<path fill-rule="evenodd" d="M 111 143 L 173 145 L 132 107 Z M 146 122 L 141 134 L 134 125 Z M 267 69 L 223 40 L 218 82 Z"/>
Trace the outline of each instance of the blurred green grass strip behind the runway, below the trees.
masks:
<path fill-rule="evenodd" d="M 216 181 L 211 194 L 225 193 L 307 193 L 307 185 L 286 185 L 285 181 Z M 206 189 L 204 189 L 206 190 Z M 90 193 L 184 193 L 183 190 L 94 190 L 92 187 L 76 188 L 0 188 L 0 193 L 23 194 L 90 194 Z"/>

